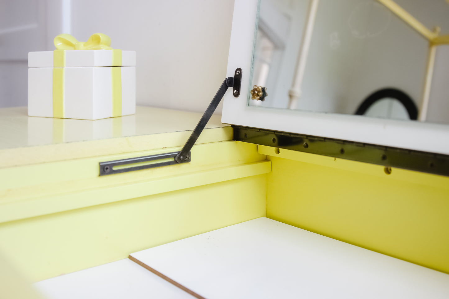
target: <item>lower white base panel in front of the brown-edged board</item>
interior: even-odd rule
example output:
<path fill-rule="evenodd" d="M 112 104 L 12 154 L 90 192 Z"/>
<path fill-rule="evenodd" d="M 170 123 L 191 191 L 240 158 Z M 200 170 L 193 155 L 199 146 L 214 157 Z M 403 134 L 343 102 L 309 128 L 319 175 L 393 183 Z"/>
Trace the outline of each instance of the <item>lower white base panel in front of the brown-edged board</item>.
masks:
<path fill-rule="evenodd" d="M 47 299 L 194 299 L 129 259 L 34 284 Z"/>

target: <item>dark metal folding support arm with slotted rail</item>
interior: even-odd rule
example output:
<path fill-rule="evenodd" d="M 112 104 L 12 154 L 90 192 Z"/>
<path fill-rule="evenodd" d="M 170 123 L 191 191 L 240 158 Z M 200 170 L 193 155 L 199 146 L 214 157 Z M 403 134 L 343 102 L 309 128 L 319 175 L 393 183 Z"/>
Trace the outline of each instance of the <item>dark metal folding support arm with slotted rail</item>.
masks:
<path fill-rule="evenodd" d="M 220 104 L 220 101 L 225 95 L 226 91 L 228 90 L 229 87 L 232 87 L 233 96 L 238 97 L 240 95 L 241 83 L 242 83 L 242 69 L 238 68 L 235 70 L 234 77 L 226 78 L 225 81 L 223 81 L 215 97 L 212 99 L 211 104 L 209 105 L 209 107 L 207 107 L 206 111 L 202 115 L 202 118 L 200 119 L 196 128 L 194 129 L 194 132 L 192 132 L 192 134 L 190 135 L 189 139 L 187 140 L 187 142 L 185 143 L 184 147 L 181 149 L 180 152 L 156 154 L 150 156 L 101 162 L 100 176 L 190 162 L 190 150 L 194 146 L 195 142 L 198 140 L 198 137 L 201 134 L 204 127 L 206 127 L 206 124 L 209 121 L 209 119 L 211 119 L 212 114 L 217 109 L 217 106 L 218 104 Z M 146 163 L 144 165 L 142 164 L 136 165 L 136 163 L 145 163 L 148 161 L 157 161 L 167 158 L 173 158 L 173 160 L 156 163 Z M 123 167 L 123 165 L 125 167 Z M 126 165 L 129 165 L 129 167 L 126 167 Z M 121 167 L 114 169 L 114 166 L 121 166 Z"/>

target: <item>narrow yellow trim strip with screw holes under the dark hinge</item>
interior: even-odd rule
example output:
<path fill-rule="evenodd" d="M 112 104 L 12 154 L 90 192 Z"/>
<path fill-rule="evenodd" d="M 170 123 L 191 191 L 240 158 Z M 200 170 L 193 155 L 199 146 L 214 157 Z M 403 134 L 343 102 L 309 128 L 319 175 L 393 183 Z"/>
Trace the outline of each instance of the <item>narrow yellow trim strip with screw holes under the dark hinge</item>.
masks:
<path fill-rule="evenodd" d="M 387 175 L 384 171 L 385 167 L 380 165 L 327 157 L 317 154 L 303 153 L 290 149 L 279 149 L 279 154 L 277 154 L 276 148 L 265 145 L 259 145 L 258 151 L 259 154 L 277 158 L 285 158 L 304 163 L 332 167 L 339 170 L 352 171 L 364 175 L 388 177 L 392 180 L 401 180 L 417 185 L 426 185 L 435 188 L 449 189 L 449 177 L 446 176 L 438 176 L 430 173 L 411 171 L 394 167 L 392 168 L 392 173 Z"/>

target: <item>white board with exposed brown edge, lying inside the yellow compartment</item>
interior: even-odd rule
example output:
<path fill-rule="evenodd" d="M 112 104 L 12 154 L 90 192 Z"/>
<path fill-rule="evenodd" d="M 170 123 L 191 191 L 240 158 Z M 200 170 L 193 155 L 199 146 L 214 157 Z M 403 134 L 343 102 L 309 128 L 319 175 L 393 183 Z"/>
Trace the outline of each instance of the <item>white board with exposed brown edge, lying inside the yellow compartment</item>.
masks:
<path fill-rule="evenodd" d="M 207 299 L 449 296 L 448 274 L 268 218 L 131 256 Z"/>

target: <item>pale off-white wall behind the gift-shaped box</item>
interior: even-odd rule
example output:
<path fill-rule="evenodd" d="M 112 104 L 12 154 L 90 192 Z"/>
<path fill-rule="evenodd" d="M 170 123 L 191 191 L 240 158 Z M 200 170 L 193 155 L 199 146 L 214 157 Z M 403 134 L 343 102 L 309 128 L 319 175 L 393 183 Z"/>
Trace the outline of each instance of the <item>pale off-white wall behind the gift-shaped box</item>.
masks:
<path fill-rule="evenodd" d="M 4 2 L 13 0 L 0 0 L 0 7 Z M 113 48 L 137 51 L 137 105 L 203 112 L 225 79 L 233 0 L 59 2 L 70 4 L 68 33 L 78 40 L 102 32 L 111 37 Z M 49 16 L 48 35 L 57 19 Z M 47 44 L 53 37 L 47 37 Z M 14 67 L 14 76 L 0 65 L 0 107 L 26 105 L 24 65 Z"/>

